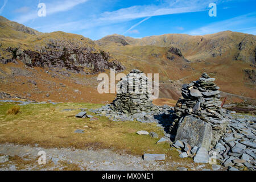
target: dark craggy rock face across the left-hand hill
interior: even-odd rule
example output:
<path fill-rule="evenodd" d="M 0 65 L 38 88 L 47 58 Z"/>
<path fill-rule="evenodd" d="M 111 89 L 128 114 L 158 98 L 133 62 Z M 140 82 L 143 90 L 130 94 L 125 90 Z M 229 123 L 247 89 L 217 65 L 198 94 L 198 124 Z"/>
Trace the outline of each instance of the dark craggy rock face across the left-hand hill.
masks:
<path fill-rule="evenodd" d="M 0 59 L 0 63 L 16 63 L 17 59 L 30 67 L 66 68 L 76 73 L 84 73 L 84 68 L 89 68 L 92 74 L 110 68 L 117 72 L 125 69 L 117 60 L 110 61 L 109 53 L 104 51 L 98 53 L 94 48 L 62 48 L 50 45 L 48 47 L 50 49 L 42 48 L 38 51 L 9 48 L 5 51 L 12 52 L 13 59 Z"/>

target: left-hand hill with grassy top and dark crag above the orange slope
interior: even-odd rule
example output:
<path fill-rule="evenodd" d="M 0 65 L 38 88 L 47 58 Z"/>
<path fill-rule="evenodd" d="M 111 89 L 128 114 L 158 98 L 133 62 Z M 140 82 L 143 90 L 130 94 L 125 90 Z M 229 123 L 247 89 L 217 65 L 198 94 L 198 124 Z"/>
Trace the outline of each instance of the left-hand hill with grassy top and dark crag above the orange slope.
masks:
<path fill-rule="evenodd" d="M 109 53 L 81 35 L 60 31 L 43 34 L 2 16 L 0 25 L 1 63 L 20 60 L 30 67 L 65 68 L 77 73 L 124 69 Z"/>

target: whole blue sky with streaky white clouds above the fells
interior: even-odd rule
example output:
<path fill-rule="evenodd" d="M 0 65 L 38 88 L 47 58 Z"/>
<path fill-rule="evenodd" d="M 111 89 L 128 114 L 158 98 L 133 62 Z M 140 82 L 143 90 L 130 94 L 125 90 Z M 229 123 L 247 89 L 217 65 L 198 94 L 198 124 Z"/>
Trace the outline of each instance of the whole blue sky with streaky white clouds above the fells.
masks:
<path fill-rule="evenodd" d="M 39 3 L 46 5 L 46 16 L 38 16 Z M 216 3 L 217 16 L 209 16 L 209 3 Z M 93 40 L 110 34 L 142 38 L 225 30 L 256 35 L 255 0 L 0 0 L 0 7 L 0 15 L 38 31 Z"/>

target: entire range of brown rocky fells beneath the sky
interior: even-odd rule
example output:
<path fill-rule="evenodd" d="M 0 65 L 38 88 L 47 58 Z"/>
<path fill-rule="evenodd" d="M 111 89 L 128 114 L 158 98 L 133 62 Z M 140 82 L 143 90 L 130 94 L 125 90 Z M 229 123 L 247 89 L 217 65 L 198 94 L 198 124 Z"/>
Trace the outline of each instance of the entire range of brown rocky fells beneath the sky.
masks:
<path fill-rule="evenodd" d="M 142 39 L 114 34 L 93 41 L 61 31 L 42 33 L 0 16 L 0 90 L 39 101 L 105 103 L 114 94 L 95 92 L 96 73 L 115 68 L 159 73 L 163 101 L 178 100 L 181 85 L 203 72 L 216 78 L 228 102 L 255 100 L 255 37 L 225 31 Z"/>

